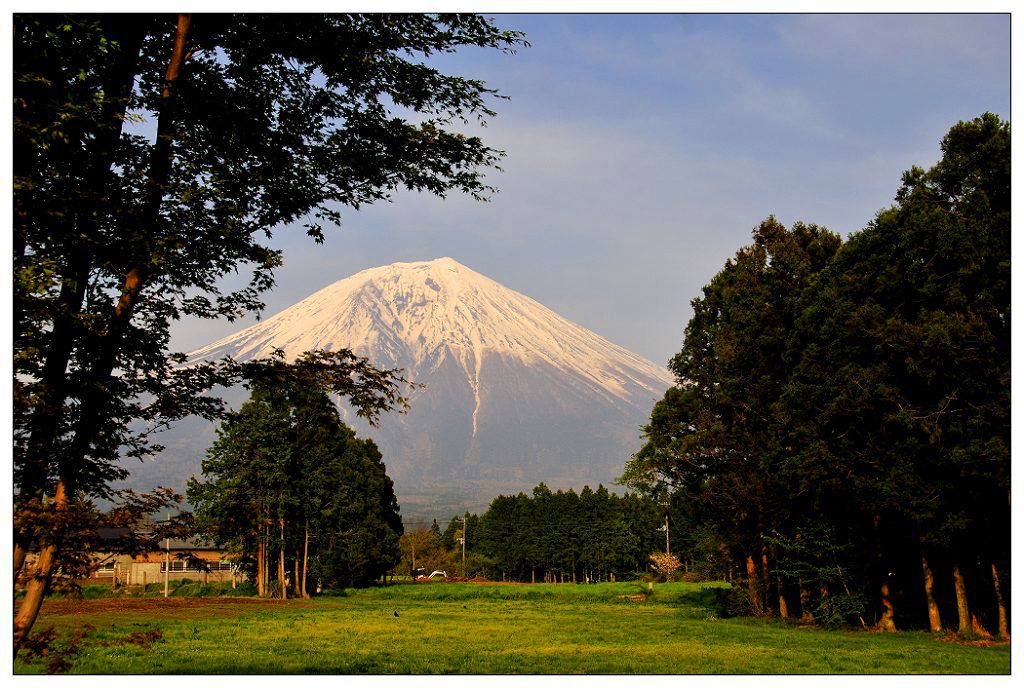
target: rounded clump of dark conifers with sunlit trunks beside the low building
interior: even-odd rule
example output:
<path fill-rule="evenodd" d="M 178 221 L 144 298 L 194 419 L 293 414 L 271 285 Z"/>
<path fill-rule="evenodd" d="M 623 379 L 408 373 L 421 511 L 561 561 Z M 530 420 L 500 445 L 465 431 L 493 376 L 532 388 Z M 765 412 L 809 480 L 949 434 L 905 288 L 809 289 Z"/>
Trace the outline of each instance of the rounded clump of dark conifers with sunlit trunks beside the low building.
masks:
<path fill-rule="evenodd" d="M 254 385 L 188 483 L 200 531 L 239 555 L 260 596 L 365 585 L 398 560 L 401 519 L 372 440 L 322 390 Z M 276 580 L 273 582 L 273 578 Z"/>

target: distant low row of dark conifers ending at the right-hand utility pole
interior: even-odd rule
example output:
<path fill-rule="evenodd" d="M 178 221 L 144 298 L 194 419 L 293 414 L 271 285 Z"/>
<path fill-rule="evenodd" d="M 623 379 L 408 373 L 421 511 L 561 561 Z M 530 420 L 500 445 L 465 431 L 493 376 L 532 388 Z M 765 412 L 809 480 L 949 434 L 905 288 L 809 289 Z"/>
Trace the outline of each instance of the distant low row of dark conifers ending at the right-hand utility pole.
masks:
<path fill-rule="evenodd" d="M 455 517 L 444 531 L 435 521 L 430 530 L 409 532 L 403 565 L 461 571 L 465 518 L 469 577 L 578 583 L 633 575 L 665 546 L 664 513 L 649 497 L 618 496 L 603 485 L 577 493 L 541 483 L 530 494 L 496 498 L 479 516 Z"/>

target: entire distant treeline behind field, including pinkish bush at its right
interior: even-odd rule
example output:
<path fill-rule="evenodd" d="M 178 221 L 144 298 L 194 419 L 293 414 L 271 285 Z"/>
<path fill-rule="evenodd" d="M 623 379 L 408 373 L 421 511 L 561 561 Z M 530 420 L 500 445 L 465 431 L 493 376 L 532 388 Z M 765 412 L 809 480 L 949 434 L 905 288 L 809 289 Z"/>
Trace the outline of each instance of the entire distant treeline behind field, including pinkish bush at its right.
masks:
<path fill-rule="evenodd" d="M 401 561 L 395 575 L 442 570 L 450 578 L 586 582 L 637 575 L 687 580 L 732 579 L 734 562 L 717 531 L 701 523 L 681 494 L 633 492 L 603 485 L 497 497 L 480 515 L 453 516 L 443 529 L 436 520 L 404 523 Z M 666 533 L 666 526 L 669 533 Z M 463 575 L 463 533 L 466 533 Z M 666 548 L 678 569 L 667 574 L 659 562 Z M 658 558 L 652 555 L 657 555 Z"/>

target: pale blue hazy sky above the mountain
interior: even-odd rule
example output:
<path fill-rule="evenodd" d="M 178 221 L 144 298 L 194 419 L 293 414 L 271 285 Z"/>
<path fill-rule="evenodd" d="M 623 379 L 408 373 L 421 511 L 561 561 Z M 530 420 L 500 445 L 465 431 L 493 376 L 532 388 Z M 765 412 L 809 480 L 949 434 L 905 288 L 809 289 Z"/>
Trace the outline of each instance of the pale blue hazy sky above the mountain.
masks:
<path fill-rule="evenodd" d="M 844 236 L 890 205 L 959 120 L 1010 119 L 1008 14 L 496 15 L 514 55 L 435 60 L 509 100 L 489 203 L 397 193 L 299 227 L 263 316 L 358 270 L 451 256 L 659 364 L 690 300 L 768 215 Z M 186 320 L 187 351 L 242 324 Z"/>

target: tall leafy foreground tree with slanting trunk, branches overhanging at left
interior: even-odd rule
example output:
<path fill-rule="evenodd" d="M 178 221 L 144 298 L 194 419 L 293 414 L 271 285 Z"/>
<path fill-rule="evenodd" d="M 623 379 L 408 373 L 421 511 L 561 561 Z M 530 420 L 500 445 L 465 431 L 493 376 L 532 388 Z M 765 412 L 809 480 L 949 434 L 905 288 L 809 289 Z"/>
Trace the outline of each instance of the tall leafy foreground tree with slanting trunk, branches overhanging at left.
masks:
<path fill-rule="evenodd" d="M 323 242 L 398 188 L 485 197 L 502 153 L 452 125 L 497 93 L 425 58 L 522 43 L 475 15 L 16 15 L 16 508 L 109 497 L 119 460 L 157 448 L 139 423 L 221 410 L 203 392 L 224 370 L 177 367 L 169 324 L 259 309 L 281 263 L 262 238 Z M 15 574 L 30 549 L 15 643 L 60 533 L 18 529 Z"/>

